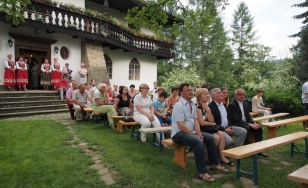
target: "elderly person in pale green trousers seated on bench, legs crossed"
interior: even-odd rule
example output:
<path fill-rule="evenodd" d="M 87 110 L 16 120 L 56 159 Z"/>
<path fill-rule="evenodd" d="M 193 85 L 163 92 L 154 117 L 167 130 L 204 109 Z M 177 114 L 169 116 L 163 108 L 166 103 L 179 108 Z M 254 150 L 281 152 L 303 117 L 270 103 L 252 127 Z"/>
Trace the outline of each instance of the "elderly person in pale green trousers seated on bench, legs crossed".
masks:
<path fill-rule="evenodd" d="M 93 100 L 93 112 L 100 114 L 107 114 L 107 116 L 116 116 L 117 113 L 112 105 L 109 105 L 109 96 L 107 94 L 107 85 L 99 84 L 97 86 L 98 92 L 94 93 Z M 112 118 L 108 118 L 109 125 L 111 128 L 115 129 L 114 121 Z"/>

